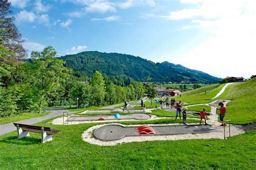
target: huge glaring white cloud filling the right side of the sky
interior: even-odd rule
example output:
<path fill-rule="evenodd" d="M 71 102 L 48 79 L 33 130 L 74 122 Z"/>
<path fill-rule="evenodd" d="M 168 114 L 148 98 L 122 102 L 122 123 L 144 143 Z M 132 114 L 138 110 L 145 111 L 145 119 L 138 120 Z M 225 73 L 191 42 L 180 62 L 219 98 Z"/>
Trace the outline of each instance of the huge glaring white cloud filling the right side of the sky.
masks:
<path fill-rule="evenodd" d="M 190 26 L 209 35 L 192 50 L 176 56 L 173 62 L 217 77 L 248 78 L 255 74 L 256 1 L 208 0 L 195 9 L 199 12 L 179 12 L 186 16 L 183 18 L 190 18 Z"/>

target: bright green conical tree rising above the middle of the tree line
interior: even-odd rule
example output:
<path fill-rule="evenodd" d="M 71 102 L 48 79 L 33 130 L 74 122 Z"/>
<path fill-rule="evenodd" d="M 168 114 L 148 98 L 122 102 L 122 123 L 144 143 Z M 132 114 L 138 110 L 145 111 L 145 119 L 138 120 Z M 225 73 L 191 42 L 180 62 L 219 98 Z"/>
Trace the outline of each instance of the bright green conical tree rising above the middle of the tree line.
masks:
<path fill-rule="evenodd" d="M 104 104 L 104 98 L 106 94 L 105 81 L 102 73 L 96 71 L 92 75 L 91 79 L 91 91 L 90 91 L 90 105 L 100 106 Z"/>

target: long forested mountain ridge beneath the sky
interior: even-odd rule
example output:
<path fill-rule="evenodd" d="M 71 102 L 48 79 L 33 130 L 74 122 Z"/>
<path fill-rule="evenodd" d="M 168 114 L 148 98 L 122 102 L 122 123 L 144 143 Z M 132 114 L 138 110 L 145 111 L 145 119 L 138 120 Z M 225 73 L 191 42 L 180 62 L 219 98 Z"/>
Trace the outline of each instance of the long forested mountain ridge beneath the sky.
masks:
<path fill-rule="evenodd" d="M 60 58 L 65 60 L 65 66 L 73 69 L 76 74 L 91 77 L 98 70 L 104 76 L 109 76 L 116 84 L 120 84 L 118 81 L 130 78 L 136 81 L 191 81 L 206 84 L 220 80 L 220 78 L 188 69 L 179 64 L 153 63 L 150 60 L 120 53 L 86 51 Z"/>

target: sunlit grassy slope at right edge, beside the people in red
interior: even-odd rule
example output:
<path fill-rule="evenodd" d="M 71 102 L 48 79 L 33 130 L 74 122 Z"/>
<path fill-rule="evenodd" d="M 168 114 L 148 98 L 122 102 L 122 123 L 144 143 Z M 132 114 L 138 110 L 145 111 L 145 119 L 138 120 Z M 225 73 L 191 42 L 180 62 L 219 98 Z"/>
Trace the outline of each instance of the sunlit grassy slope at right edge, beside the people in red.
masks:
<path fill-rule="evenodd" d="M 232 100 L 227 104 L 226 119 L 232 124 L 251 124 L 256 121 L 256 78 L 227 86 L 221 99 Z"/>

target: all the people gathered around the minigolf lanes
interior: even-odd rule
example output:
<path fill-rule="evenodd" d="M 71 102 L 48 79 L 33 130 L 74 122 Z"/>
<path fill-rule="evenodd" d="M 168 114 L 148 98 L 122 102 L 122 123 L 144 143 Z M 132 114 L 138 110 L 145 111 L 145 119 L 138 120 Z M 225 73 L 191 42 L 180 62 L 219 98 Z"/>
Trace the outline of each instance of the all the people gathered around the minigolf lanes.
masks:
<path fill-rule="evenodd" d="M 173 104 L 174 102 L 174 104 Z M 186 125 L 186 119 L 187 119 L 187 108 L 185 107 L 184 111 L 182 111 L 182 106 L 183 106 L 183 103 L 181 100 L 179 100 L 178 103 L 175 104 L 175 99 L 171 99 L 171 107 L 174 107 L 176 108 L 176 117 L 175 117 L 175 121 L 177 120 L 178 116 L 179 116 L 179 120 L 181 121 L 181 113 L 182 113 L 182 116 L 183 116 L 183 124 Z M 164 108 L 164 101 L 163 100 L 156 100 L 156 108 L 157 108 L 157 104 L 160 103 L 160 106 L 161 106 L 161 109 Z M 166 107 L 169 107 L 169 99 L 167 98 L 165 100 L 165 103 L 166 103 Z M 141 101 L 140 105 L 143 107 L 143 112 L 146 112 L 146 105 L 144 104 L 143 100 Z M 220 111 L 220 114 L 219 114 L 219 118 L 220 118 L 220 121 L 221 121 L 221 125 L 220 126 L 227 126 L 225 124 L 225 121 L 224 121 L 224 116 L 225 116 L 225 113 L 226 113 L 226 108 L 224 107 L 224 104 L 222 102 L 219 103 L 219 106 L 220 108 L 217 108 L 217 110 Z M 126 101 L 124 101 L 124 109 L 123 109 L 123 112 L 124 110 L 127 110 L 129 113 L 130 111 L 128 110 L 127 108 L 127 103 Z M 203 108 L 203 110 L 200 112 L 200 125 L 201 125 L 201 121 L 204 119 L 205 121 L 205 125 L 208 125 L 206 123 L 206 119 L 207 118 L 207 112 L 206 112 L 206 109 Z"/>

